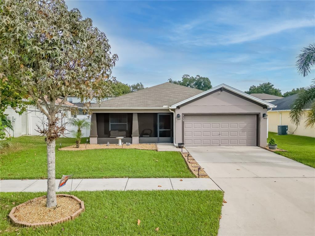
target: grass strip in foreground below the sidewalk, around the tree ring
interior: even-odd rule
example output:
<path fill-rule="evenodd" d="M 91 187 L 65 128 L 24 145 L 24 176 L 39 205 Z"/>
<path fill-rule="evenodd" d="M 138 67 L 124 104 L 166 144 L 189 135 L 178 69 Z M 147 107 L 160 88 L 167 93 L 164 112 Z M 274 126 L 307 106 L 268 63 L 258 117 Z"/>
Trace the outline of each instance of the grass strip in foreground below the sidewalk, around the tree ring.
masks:
<path fill-rule="evenodd" d="M 44 193 L 0 193 L 1 234 L 200 236 L 218 233 L 222 191 L 80 191 L 73 194 L 84 200 L 85 211 L 78 218 L 34 230 L 13 227 L 8 214 L 12 202 L 17 205 Z M 159 230 L 155 231 L 157 227 Z"/>

